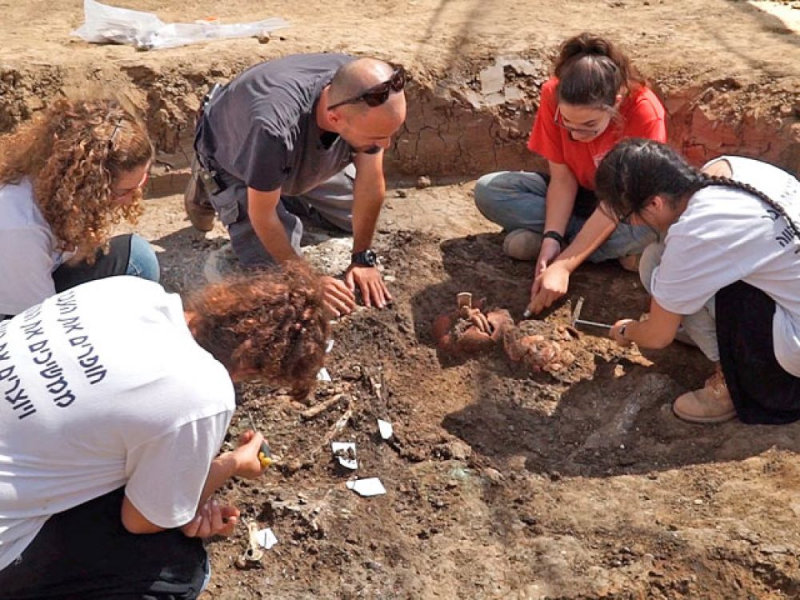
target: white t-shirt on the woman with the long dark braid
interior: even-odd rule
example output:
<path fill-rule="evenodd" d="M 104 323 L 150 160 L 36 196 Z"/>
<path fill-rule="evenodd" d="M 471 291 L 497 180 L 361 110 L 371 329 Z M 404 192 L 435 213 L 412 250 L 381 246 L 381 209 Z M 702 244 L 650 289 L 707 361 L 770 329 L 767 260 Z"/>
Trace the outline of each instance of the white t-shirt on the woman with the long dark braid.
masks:
<path fill-rule="evenodd" d="M 722 157 L 732 179 L 765 193 L 800 227 L 800 182 L 757 160 Z M 689 315 L 718 290 L 744 281 L 775 301 L 775 358 L 800 377 L 800 242 L 786 219 L 747 192 L 713 186 L 692 196 L 667 233 L 652 293 L 666 310 Z M 742 307 L 747 310 L 747 307 Z"/>

